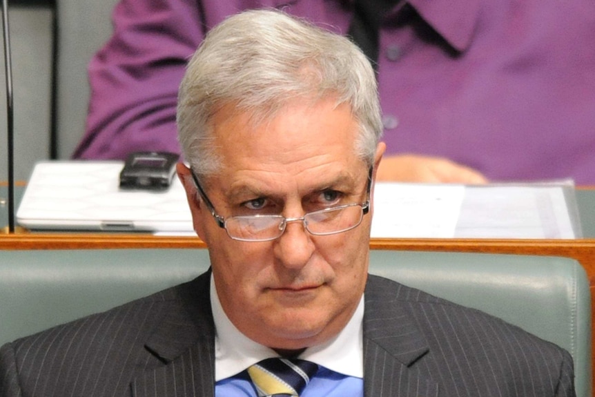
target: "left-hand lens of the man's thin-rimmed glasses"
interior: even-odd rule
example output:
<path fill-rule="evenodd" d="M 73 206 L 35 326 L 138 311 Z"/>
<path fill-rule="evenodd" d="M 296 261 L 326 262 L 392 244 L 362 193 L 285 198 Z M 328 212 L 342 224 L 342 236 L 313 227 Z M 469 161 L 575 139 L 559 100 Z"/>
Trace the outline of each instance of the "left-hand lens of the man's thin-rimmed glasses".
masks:
<path fill-rule="evenodd" d="M 273 240 L 283 233 L 281 215 L 233 216 L 225 221 L 228 235 L 235 240 Z"/>

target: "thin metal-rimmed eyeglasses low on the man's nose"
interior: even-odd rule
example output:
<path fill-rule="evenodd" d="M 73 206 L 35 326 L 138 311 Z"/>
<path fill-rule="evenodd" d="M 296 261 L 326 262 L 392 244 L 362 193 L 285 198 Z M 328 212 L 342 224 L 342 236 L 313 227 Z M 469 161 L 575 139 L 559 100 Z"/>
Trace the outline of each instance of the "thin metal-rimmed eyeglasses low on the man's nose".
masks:
<path fill-rule="evenodd" d="M 355 229 L 362 223 L 364 215 L 370 211 L 370 190 L 372 184 L 370 168 L 367 185 L 367 200 L 362 203 L 333 206 L 304 214 L 302 217 L 284 217 L 283 215 L 237 215 L 222 217 L 215 211 L 215 206 L 208 199 L 198 177 L 191 171 L 199 195 L 217 224 L 226 230 L 229 237 L 239 241 L 264 242 L 280 238 L 290 222 L 302 222 L 304 229 L 311 235 L 331 235 Z"/>

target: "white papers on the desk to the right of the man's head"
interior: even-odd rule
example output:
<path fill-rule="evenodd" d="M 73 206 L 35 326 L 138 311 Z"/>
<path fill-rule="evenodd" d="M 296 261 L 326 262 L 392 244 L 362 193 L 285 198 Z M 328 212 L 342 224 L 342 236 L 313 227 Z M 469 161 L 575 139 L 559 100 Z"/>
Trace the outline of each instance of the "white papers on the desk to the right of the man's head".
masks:
<path fill-rule="evenodd" d="M 372 238 L 581 238 L 572 181 L 535 184 L 379 182 Z"/>

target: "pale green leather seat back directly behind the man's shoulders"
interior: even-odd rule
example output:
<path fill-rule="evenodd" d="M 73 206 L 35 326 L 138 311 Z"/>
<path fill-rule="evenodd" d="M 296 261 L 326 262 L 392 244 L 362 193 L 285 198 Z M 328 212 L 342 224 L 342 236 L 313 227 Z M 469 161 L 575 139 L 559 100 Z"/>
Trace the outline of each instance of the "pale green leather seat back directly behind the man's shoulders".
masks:
<path fill-rule="evenodd" d="M 208 269 L 206 249 L 0 251 L 0 344 Z M 567 349 L 578 396 L 591 396 L 587 276 L 568 258 L 371 251 L 370 273 L 475 307 Z"/>

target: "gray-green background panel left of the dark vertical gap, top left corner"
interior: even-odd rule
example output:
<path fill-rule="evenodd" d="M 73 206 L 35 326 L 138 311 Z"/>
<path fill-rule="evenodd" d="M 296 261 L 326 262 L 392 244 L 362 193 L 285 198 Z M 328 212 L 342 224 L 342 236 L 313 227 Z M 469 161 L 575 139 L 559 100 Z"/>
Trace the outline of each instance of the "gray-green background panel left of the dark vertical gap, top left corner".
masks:
<path fill-rule="evenodd" d="M 14 108 L 14 177 L 27 180 L 32 164 L 50 156 L 53 19 L 51 0 L 9 2 Z M 8 177 L 4 46 L 0 45 L 0 180 Z M 6 211 L 6 209 L 2 209 Z"/>

